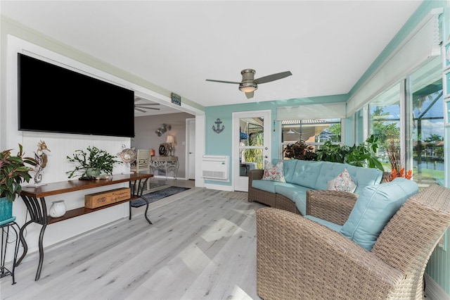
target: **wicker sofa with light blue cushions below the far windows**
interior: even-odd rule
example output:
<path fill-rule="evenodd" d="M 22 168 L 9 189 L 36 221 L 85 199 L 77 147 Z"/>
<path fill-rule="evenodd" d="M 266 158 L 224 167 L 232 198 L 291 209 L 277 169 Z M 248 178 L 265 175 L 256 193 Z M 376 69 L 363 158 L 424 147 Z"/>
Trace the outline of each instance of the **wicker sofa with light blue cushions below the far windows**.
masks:
<path fill-rule="evenodd" d="M 273 165 L 279 160 L 274 159 Z M 347 169 L 356 183 L 354 194 L 345 193 L 349 202 L 354 204 L 357 194 L 368 185 L 379 184 L 383 172 L 374 168 L 355 167 L 347 163 L 329 161 L 283 160 L 285 182 L 262 180 L 264 170 L 250 170 L 248 173 L 248 201 L 257 201 L 274 208 L 306 215 L 307 191 L 309 189 L 326 190 L 330 180 Z M 330 192 L 333 196 L 335 192 Z M 338 193 L 339 194 L 339 193 Z M 342 195 L 340 195 L 342 198 Z"/>

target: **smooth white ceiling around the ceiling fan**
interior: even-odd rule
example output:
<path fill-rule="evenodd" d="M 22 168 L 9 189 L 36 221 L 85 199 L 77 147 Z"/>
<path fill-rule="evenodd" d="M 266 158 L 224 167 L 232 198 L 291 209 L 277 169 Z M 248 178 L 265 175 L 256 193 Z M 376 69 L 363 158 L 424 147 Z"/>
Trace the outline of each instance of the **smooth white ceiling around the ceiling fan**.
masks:
<path fill-rule="evenodd" d="M 421 3 L 1 0 L 0 12 L 182 99 L 217 106 L 347 94 Z M 245 68 L 255 78 L 293 75 L 259 85 L 252 99 L 238 85 L 205 81 L 239 82 Z"/>

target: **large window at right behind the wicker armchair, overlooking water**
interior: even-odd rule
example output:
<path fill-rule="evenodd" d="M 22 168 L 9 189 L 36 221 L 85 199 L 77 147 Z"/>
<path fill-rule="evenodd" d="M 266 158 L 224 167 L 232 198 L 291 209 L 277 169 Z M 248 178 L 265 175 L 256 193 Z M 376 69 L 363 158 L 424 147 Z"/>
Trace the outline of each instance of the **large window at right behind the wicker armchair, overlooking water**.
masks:
<path fill-rule="evenodd" d="M 356 118 L 364 110 L 356 113 Z M 361 125 L 360 123 L 356 123 Z M 368 104 L 368 134 L 379 138 L 385 170 L 413 171 L 420 187 L 444 185 L 442 62 L 433 59 Z"/>

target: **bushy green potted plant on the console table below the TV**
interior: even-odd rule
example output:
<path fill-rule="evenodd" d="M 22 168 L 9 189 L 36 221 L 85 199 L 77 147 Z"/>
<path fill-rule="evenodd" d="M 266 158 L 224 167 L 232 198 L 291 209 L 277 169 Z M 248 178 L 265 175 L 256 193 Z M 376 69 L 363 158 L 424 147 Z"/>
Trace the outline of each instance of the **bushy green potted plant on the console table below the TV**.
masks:
<path fill-rule="evenodd" d="M 74 170 L 66 172 L 69 178 L 81 175 L 79 179 L 94 179 L 102 172 L 113 174 L 113 168 L 118 161 L 115 156 L 96 146 L 87 147 L 87 151 L 75 150 L 73 157 L 67 156 L 71 163 L 77 163 Z M 78 174 L 77 174 L 78 173 Z"/>

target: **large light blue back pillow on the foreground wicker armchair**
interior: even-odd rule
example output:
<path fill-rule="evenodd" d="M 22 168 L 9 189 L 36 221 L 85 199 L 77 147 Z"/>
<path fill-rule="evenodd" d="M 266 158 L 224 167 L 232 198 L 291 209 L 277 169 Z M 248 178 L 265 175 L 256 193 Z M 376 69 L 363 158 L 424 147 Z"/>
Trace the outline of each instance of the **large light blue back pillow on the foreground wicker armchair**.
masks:
<path fill-rule="evenodd" d="M 418 192 L 413 180 L 397 177 L 391 182 L 365 187 L 340 233 L 371 251 L 378 236 L 406 199 Z"/>

